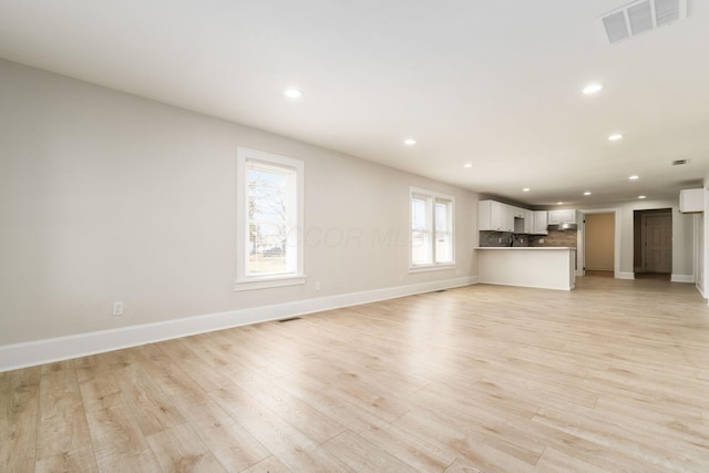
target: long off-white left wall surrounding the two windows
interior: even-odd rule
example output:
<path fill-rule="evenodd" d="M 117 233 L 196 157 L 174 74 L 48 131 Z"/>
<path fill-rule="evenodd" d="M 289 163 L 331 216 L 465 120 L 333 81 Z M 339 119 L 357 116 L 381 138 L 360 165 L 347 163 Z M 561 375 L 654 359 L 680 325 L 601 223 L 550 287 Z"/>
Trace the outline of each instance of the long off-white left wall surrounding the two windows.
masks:
<path fill-rule="evenodd" d="M 0 104 L 0 346 L 476 273 L 474 193 L 7 61 Z M 233 290 L 237 146 L 306 163 L 305 286 Z M 408 274 L 410 185 L 460 274 Z"/>

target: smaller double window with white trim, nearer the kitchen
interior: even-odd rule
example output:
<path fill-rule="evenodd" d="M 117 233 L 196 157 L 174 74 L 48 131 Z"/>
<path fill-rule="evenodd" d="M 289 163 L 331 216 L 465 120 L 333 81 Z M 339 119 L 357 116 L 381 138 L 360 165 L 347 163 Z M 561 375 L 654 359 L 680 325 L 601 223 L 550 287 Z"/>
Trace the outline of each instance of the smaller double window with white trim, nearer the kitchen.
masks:
<path fill-rule="evenodd" d="M 409 202 L 410 267 L 424 269 L 454 265 L 454 197 L 411 187 Z"/>

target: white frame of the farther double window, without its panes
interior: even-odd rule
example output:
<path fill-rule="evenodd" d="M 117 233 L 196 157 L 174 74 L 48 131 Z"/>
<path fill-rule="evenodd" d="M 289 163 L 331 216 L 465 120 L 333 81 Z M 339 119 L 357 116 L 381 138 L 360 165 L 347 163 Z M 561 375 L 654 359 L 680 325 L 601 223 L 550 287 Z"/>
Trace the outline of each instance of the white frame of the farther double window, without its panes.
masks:
<path fill-rule="evenodd" d="M 413 219 L 413 210 L 412 210 L 412 200 L 417 196 L 423 196 L 428 199 L 427 205 L 427 226 L 431 229 L 431 263 L 427 264 L 414 264 L 413 263 L 413 236 L 411 232 L 411 223 Z M 448 215 L 449 217 L 449 230 L 451 235 L 451 261 L 445 263 L 436 263 L 435 256 L 435 200 L 444 199 L 451 203 L 451 209 Z M 455 268 L 455 197 L 448 194 L 441 194 L 433 191 L 423 189 L 420 187 L 409 187 L 409 273 L 422 273 L 422 271 L 435 271 L 435 270 L 444 270 L 444 269 L 453 269 Z"/>

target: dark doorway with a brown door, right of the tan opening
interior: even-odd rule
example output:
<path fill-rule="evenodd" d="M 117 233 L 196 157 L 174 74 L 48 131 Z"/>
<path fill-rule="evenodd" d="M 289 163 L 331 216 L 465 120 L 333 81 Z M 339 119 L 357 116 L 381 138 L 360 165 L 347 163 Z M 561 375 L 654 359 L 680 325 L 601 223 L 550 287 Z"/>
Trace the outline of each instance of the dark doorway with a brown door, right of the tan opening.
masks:
<path fill-rule="evenodd" d="M 633 266 L 636 279 L 670 280 L 672 209 L 635 210 L 633 225 Z"/>

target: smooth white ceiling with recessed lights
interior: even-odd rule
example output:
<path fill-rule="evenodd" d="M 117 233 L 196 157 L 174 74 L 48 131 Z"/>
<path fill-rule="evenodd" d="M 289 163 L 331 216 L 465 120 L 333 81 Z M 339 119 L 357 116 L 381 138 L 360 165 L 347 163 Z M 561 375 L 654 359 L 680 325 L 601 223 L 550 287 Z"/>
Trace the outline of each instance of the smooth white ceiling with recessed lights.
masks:
<path fill-rule="evenodd" d="M 2 0 L 0 56 L 530 205 L 676 198 L 709 172 L 709 0 L 608 45 L 625 2 Z"/>

